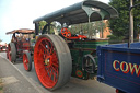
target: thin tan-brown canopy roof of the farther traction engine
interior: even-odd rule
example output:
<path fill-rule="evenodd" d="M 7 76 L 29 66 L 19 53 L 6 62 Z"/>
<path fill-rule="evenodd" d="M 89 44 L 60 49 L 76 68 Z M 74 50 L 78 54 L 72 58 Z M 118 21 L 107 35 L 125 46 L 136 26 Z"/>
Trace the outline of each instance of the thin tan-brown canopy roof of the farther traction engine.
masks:
<path fill-rule="evenodd" d="M 14 33 L 32 34 L 32 33 L 35 33 L 35 31 L 28 30 L 28 28 L 21 28 L 21 30 L 13 30 L 11 32 L 7 32 L 5 34 L 14 34 Z"/>

